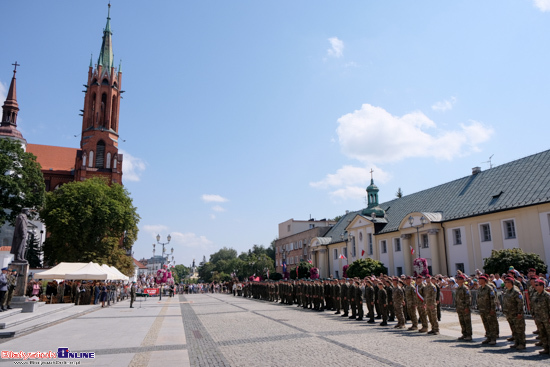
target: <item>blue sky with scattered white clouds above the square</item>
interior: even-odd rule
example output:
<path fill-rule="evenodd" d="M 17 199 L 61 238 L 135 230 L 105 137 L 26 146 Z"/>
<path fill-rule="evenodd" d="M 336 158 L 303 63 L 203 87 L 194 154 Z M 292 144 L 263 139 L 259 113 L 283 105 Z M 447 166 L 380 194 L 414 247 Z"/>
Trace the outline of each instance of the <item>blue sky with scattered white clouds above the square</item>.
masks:
<path fill-rule="evenodd" d="M 111 5 L 136 259 L 267 247 L 365 207 L 371 170 L 384 202 L 549 149 L 550 0 Z M 17 61 L 25 139 L 78 148 L 107 1 L 0 13 L 0 99 Z"/>

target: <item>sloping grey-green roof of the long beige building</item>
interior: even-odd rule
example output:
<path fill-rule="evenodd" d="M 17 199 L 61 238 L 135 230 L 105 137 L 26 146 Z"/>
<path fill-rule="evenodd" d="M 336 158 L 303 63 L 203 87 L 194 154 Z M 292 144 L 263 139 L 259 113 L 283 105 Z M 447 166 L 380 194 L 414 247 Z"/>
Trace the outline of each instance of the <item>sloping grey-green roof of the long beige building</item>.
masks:
<path fill-rule="evenodd" d="M 378 233 L 398 230 L 413 212 L 445 222 L 545 202 L 550 202 L 550 150 L 381 203 L 388 224 Z"/>

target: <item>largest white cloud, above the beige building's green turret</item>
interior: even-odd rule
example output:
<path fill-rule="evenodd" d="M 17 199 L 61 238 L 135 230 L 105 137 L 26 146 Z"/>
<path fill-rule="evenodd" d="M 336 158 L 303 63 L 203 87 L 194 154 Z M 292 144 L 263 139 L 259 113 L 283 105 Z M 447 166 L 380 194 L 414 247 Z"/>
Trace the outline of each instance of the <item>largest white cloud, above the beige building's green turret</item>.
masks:
<path fill-rule="evenodd" d="M 377 164 L 410 157 L 452 159 L 477 151 L 478 144 L 494 133 L 477 121 L 461 124 L 459 130 L 443 131 L 420 111 L 398 117 L 369 104 L 340 117 L 338 123 L 343 153 Z"/>

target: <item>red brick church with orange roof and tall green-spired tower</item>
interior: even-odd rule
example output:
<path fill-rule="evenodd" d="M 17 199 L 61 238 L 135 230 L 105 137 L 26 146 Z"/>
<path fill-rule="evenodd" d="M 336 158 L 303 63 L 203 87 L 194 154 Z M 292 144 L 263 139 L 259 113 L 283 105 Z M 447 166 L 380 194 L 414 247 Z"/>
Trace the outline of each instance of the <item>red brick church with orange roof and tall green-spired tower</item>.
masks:
<path fill-rule="evenodd" d="M 90 60 L 88 69 L 80 149 L 27 144 L 17 130 L 19 106 L 15 74 L 18 64 L 14 64 L 13 78 L 2 106 L 0 138 L 20 140 L 26 151 L 37 157 L 47 191 L 67 182 L 97 176 L 111 183 L 122 183 L 122 154 L 118 152 L 122 72 L 120 64 L 118 69 L 114 66 L 110 7 L 97 64 L 93 65 Z"/>

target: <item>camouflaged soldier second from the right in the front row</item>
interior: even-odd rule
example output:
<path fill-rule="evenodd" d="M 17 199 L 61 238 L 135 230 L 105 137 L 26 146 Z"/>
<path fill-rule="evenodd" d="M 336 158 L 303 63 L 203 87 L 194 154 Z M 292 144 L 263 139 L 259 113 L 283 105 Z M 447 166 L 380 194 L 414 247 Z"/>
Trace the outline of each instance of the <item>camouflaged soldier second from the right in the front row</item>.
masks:
<path fill-rule="evenodd" d="M 523 296 L 521 291 L 514 286 L 515 279 L 507 277 L 504 280 L 504 309 L 506 320 L 512 330 L 514 345 L 510 348 L 525 349 L 525 318 L 523 316 Z"/>

